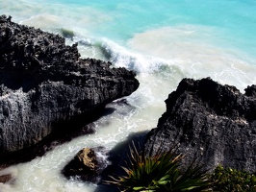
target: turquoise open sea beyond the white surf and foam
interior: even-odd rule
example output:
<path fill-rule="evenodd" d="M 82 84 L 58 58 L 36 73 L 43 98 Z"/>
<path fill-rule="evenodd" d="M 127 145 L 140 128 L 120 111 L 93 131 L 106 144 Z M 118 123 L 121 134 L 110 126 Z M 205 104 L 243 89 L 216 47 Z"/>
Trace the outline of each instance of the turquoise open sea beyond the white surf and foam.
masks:
<path fill-rule="evenodd" d="M 212 36 L 220 46 L 236 46 L 248 54 L 255 53 L 256 1 L 253 0 L 46 0 L 32 3 L 18 0 L 0 3 L 3 4 L 0 11 L 12 14 L 13 20 L 31 19 L 32 22 L 28 23 L 33 25 L 37 17 L 48 19 L 53 22 L 48 23 L 52 30 L 55 26 L 83 28 L 81 31 L 87 31 L 90 36 L 105 36 L 124 42 L 121 45 L 147 30 L 191 25 L 212 29 L 208 40 Z M 204 32 L 198 30 L 196 33 Z"/>

